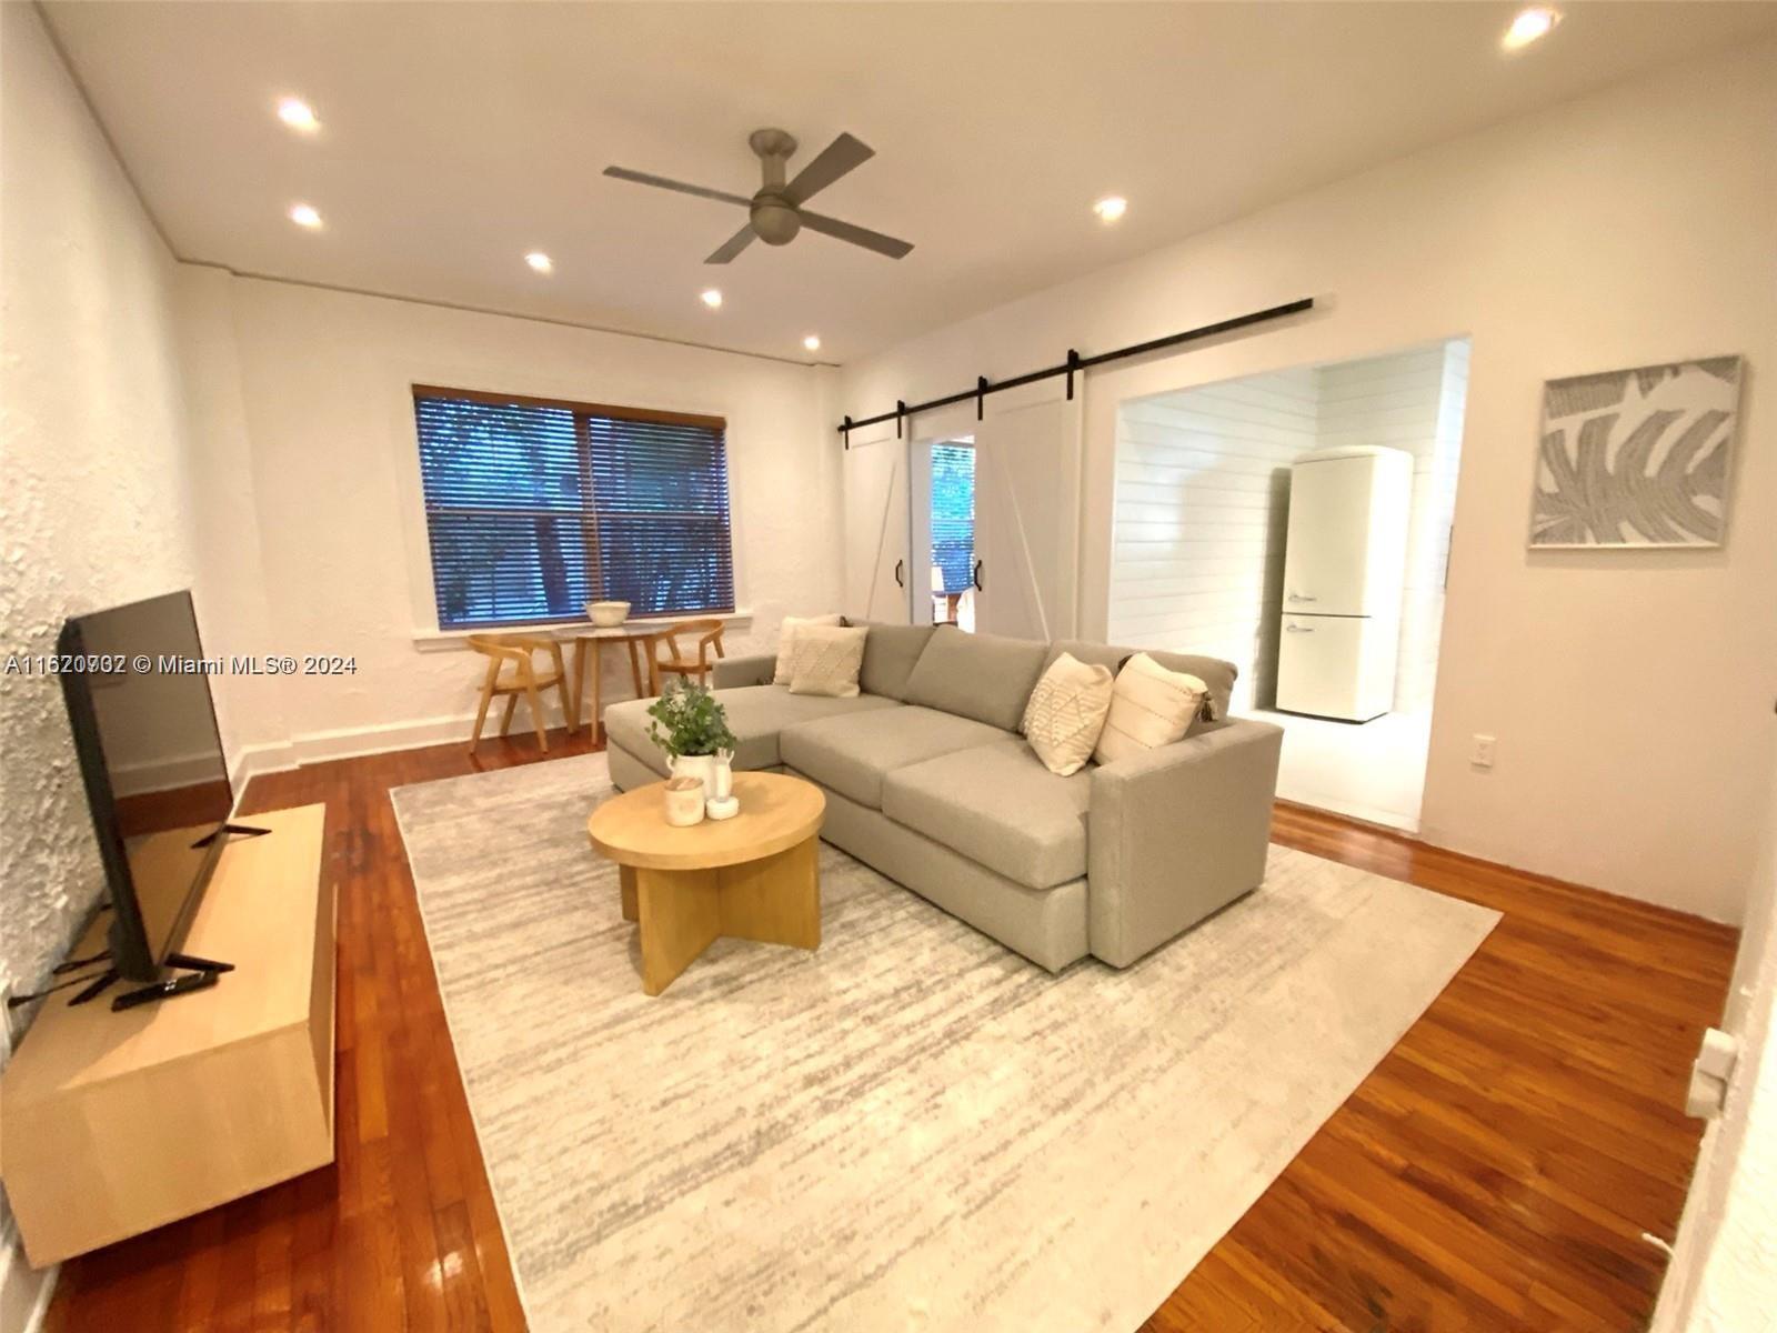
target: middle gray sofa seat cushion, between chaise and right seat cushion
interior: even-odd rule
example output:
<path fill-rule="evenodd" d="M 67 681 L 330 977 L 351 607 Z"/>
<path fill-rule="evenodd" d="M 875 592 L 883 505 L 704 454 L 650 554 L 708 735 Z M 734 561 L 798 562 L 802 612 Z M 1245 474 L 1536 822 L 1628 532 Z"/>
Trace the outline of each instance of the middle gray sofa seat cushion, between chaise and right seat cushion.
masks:
<path fill-rule="evenodd" d="M 1002 730 L 951 713 L 881 702 L 887 707 L 871 713 L 787 727 L 778 738 L 784 762 L 841 796 L 880 810 L 883 777 L 897 768 L 1006 738 Z"/>

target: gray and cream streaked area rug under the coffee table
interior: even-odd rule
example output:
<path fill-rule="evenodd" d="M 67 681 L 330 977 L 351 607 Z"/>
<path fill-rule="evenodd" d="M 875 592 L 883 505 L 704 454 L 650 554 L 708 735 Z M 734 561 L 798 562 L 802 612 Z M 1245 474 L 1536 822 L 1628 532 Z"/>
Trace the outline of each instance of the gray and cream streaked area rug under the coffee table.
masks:
<path fill-rule="evenodd" d="M 649 999 L 610 793 L 602 755 L 394 793 L 537 1333 L 1130 1333 L 1498 921 L 1272 848 L 1054 978 L 823 846 L 817 953 L 718 940 Z"/>

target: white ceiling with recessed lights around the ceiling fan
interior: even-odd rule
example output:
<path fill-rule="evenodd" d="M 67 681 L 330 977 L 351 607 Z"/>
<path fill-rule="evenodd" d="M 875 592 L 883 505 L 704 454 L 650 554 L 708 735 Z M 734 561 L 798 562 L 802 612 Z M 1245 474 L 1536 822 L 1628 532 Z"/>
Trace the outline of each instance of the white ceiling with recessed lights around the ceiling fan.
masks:
<path fill-rule="evenodd" d="M 1770 32 L 1772 4 L 50 4 L 181 258 L 844 361 L 1601 84 Z M 274 116 L 309 100 L 306 139 Z M 803 233 L 702 258 L 757 188 L 746 133 L 878 156 Z M 791 172 L 798 160 L 791 162 Z M 1130 201 L 1100 224 L 1091 203 Z M 284 213 L 313 203 L 327 226 Z M 547 251 L 551 277 L 524 267 Z M 705 309 L 711 283 L 727 302 Z"/>

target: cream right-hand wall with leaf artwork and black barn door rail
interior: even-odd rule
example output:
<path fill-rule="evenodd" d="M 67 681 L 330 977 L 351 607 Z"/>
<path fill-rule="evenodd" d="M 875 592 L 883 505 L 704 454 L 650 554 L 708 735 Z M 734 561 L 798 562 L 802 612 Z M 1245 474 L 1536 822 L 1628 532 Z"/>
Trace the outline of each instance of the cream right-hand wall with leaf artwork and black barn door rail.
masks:
<path fill-rule="evenodd" d="M 1132 201 L 1139 208 L 1141 201 Z M 1404 158 L 848 368 L 842 411 L 1315 295 L 1262 332 L 1086 377 L 1080 622 L 1102 635 L 1123 398 L 1468 334 L 1422 832 L 1738 921 L 1777 663 L 1777 44 Z M 1717 352 L 1752 373 L 1720 551 L 1525 546 L 1542 382 Z M 1491 771 L 1473 732 L 1498 736 Z"/>

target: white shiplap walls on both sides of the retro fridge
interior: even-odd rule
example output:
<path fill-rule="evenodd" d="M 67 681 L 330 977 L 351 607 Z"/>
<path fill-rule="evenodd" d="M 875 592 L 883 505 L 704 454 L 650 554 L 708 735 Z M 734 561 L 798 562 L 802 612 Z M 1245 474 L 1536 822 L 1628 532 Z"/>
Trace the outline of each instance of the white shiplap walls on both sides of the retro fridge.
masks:
<path fill-rule="evenodd" d="M 1288 469 L 1336 444 L 1413 453 L 1397 711 L 1430 707 L 1468 387 L 1468 343 L 1146 398 L 1118 414 L 1111 640 L 1240 668 L 1276 695 Z"/>

